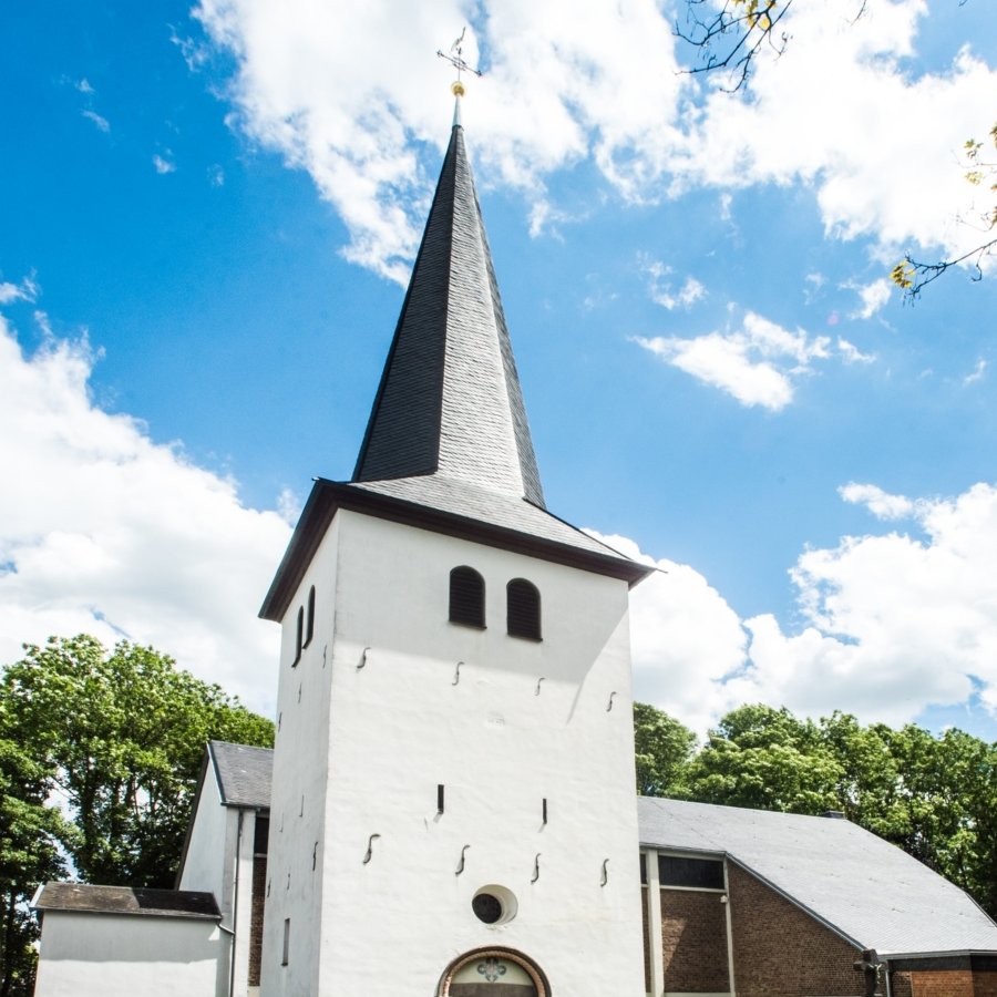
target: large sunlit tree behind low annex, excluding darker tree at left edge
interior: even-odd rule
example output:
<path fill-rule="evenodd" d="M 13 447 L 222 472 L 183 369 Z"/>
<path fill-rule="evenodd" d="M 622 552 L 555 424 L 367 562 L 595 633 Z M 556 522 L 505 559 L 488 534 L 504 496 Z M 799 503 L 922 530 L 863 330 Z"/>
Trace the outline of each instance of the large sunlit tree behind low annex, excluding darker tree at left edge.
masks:
<path fill-rule="evenodd" d="M 269 746 L 273 724 L 152 648 L 81 635 L 24 650 L 0 701 L 71 815 L 59 841 L 76 874 L 172 885 L 205 742 Z"/>

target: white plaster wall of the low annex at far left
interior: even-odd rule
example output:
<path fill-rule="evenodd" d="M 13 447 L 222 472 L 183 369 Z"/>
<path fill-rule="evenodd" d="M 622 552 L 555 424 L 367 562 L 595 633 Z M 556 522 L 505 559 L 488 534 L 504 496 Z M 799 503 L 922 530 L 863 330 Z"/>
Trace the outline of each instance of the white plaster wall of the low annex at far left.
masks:
<path fill-rule="evenodd" d="M 227 939 L 214 921 L 49 911 L 35 997 L 222 997 Z"/>

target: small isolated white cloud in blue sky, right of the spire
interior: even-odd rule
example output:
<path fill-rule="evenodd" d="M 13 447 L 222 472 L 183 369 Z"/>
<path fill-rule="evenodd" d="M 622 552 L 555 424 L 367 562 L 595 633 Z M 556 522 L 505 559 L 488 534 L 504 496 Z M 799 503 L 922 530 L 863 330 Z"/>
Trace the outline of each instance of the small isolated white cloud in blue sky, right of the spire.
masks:
<path fill-rule="evenodd" d="M 635 338 L 646 350 L 698 380 L 712 384 L 742 405 L 778 412 L 793 400 L 793 380 L 828 359 L 826 336 L 790 332 L 760 315 L 748 312 L 734 332 L 709 332 L 693 339 Z"/>

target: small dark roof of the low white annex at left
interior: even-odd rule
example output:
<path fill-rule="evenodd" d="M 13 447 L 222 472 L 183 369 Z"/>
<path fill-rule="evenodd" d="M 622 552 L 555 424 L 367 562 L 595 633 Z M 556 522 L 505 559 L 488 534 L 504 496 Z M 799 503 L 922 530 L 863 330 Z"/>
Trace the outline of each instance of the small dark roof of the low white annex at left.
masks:
<path fill-rule="evenodd" d="M 83 914 L 138 914 L 143 917 L 219 919 L 210 893 L 189 890 L 146 890 L 132 886 L 91 886 L 86 883 L 45 883 L 34 897 L 37 911 Z"/>

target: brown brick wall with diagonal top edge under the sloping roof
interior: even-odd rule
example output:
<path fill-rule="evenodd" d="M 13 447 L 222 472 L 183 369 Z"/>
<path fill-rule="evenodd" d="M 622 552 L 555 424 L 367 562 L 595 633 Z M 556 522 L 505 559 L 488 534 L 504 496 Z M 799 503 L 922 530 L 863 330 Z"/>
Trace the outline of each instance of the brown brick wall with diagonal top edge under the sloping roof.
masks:
<path fill-rule="evenodd" d="M 738 997 L 865 993 L 862 974 L 852 968 L 855 948 L 733 863 L 728 885 Z M 913 997 L 922 995 L 915 989 Z"/>

